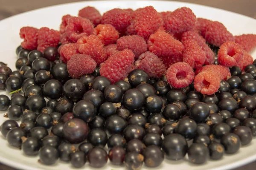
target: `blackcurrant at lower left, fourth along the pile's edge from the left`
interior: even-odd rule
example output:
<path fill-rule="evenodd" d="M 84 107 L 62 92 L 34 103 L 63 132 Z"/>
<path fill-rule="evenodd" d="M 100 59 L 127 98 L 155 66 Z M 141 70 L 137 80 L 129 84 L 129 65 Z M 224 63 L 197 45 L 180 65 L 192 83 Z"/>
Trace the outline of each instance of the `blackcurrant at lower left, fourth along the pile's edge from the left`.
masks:
<path fill-rule="evenodd" d="M 58 150 L 52 146 L 44 146 L 39 151 L 39 159 L 42 164 L 54 164 L 59 158 Z"/>

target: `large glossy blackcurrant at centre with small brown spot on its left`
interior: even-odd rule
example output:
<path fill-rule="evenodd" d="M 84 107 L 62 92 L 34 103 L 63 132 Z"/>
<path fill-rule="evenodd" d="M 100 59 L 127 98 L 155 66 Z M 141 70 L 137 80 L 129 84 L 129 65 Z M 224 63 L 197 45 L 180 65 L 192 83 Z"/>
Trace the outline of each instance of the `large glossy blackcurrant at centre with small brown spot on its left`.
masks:
<path fill-rule="evenodd" d="M 138 89 L 130 89 L 123 96 L 123 104 L 131 111 L 139 110 L 145 102 L 144 94 Z"/>

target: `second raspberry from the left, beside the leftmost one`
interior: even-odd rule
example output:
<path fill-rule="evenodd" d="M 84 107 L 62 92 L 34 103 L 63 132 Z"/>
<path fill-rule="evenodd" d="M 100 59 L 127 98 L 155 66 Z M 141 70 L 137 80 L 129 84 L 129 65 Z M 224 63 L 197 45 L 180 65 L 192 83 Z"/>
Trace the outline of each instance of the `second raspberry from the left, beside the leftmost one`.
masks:
<path fill-rule="evenodd" d="M 40 28 L 38 31 L 38 47 L 37 50 L 44 52 L 47 47 L 57 47 L 61 34 L 57 30 L 47 27 Z"/>

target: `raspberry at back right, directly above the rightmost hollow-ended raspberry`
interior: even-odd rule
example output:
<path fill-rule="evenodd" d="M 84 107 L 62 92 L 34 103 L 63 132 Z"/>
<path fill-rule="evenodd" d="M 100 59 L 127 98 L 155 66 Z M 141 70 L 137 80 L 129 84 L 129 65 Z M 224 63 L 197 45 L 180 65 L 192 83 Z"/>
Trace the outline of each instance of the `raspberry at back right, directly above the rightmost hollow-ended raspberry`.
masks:
<path fill-rule="evenodd" d="M 214 21 L 207 27 L 205 40 L 212 45 L 220 47 L 226 41 L 235 41 L 235 38 L 222 23 Z"/>

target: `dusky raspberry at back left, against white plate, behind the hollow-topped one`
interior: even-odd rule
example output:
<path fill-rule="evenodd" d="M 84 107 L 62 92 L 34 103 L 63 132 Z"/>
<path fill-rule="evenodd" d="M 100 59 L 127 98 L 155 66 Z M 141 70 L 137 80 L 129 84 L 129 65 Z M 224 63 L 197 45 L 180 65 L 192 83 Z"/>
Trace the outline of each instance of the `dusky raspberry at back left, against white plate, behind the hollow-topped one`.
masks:
<path fill-rule="evenodd" d="M 87 6 L 79 10 L 78 16 L 87 18 L 88 20 L 90 20 L 90 22 L 93 23 L 94 26 L 99 25 L 102 20 L 102 16 L 99 13 L 99 11 L 96 8 L 91 6 Z"/>

